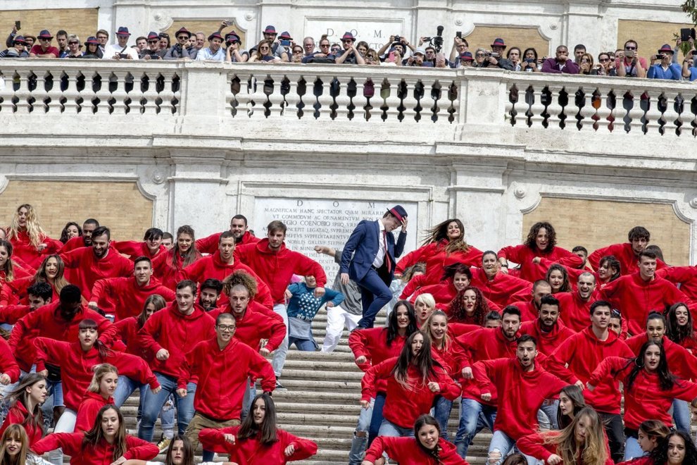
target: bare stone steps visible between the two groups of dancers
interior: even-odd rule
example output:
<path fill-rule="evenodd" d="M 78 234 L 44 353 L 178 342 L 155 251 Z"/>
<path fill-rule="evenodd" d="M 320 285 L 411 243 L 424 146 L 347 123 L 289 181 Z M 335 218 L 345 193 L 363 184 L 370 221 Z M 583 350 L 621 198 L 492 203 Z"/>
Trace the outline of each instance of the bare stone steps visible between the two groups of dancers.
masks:
<path fill-rule="evenodd" d="M 325 336 L 327 314 L 322 309 L 313 321 L 313 334 L 318 346 Z M 376 326 L 384 325 L 384 316 L 377 318 Z M 360 379 L 363 372 L 353 363 L 348 347 L 348 332 L 344 331 L 337 349 L 332 354 L 301 352 L 289 349 L 283 368 L 282 383 L 287 390 L 274 392 L 279 427 L 318 444 L 318 453 L 296 464 L 346 464 L 351 438 L 360 412 Z M 137 392 L 127 400 L 123 412 L 127 428 L 136 427 Z M 459 401 L 453 405 L 448 427 L 451 437 L 458 426 Z M 154 438 L 161 430 L 156 425 Z M 491 433 L 479 433 L 470 446 L 470 464 L 484 463 Z M 200 449 L 199 449 L 200 453 Z M 164 460 L 163 455 L 158 460 Z M 222 461 L 223 457 L 216 458 Z"/>

